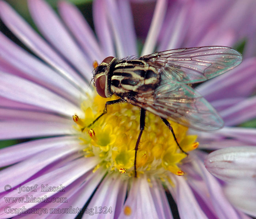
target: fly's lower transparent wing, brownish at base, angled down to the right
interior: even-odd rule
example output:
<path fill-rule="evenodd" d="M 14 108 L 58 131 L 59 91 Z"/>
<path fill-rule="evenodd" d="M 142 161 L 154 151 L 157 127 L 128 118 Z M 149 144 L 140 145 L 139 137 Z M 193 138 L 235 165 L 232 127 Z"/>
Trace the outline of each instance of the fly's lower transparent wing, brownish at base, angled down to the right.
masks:
<path fill-rule="evenodd" d="M 217 111 L 194 89 L 179 82 L 163 81 L 153 94 L 138 94 L 129 102 L 196 130 L 213 131 L 223 126 Z"/>

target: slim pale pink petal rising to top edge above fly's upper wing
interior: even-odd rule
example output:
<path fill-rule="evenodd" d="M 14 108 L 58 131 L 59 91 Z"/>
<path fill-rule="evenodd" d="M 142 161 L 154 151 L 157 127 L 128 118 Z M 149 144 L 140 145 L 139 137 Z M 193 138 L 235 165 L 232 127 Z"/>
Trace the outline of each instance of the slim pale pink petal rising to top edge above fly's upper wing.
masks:
<path fill-rule="evenodd" d="M 167 8 L 166 0 L 157 1 L 153 19 L 152 19 L 150 29 L 148 31 L 146 42 L 144 43 L 141 55 L 153 53 L 153 50 L 157 43 L 158 34 L 161 30 L 163 19 L 165 17 L 166 8 Z"/>

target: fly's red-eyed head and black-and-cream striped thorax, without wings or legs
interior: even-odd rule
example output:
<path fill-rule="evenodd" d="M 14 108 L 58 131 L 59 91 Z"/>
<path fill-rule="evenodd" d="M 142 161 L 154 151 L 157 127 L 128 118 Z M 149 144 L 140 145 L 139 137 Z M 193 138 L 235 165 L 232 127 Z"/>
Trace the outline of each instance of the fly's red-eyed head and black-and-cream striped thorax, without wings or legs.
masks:
<path fill-rule="evenodd" d="M 143 92 L 154 91 L 160 81 L 160 74 L 153 66 L 143 60 L 119 60 L 105 58 L 95 69 L 94 82 L 97 92 L 102 97 L 113 94 L 125 97 Z"/>

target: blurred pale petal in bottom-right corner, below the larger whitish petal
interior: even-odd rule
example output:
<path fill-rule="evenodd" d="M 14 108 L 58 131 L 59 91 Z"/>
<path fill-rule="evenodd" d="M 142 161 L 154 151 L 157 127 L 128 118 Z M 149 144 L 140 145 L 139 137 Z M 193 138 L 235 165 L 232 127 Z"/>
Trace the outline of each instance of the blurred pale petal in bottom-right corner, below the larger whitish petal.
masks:
<path fill-rule="evenodd" d="M 253 180 L 244 180 L 228 184 L 225 193 L 230 202 L 241 211 L 256 217 L 256 184 Z"/>

